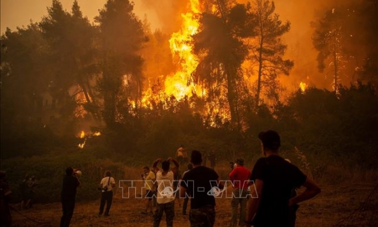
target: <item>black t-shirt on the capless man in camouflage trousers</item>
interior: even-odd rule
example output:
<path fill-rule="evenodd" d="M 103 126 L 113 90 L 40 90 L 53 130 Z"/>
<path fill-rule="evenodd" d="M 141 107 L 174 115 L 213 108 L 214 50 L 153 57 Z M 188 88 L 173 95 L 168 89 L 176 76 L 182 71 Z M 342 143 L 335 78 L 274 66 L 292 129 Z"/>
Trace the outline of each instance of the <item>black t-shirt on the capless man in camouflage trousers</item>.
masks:
<path fill-rule="evenodd" d="M 215 205 L 215 198 L 211 192 L 217 187 L 218 174 L 210 168 L 199 166 L 185 173 L 181 186 L 191 196 L 191 209 L 198 209 L 204 205 Z"/>

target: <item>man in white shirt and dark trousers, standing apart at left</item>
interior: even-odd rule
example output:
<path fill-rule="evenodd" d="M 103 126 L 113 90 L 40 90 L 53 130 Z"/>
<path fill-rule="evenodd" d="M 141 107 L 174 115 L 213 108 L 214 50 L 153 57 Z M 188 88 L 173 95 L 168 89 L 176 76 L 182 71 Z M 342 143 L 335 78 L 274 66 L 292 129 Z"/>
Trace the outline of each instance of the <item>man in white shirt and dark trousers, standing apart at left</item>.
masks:
<path fill-rule="evenodd" d="M 109 170 L 105 171 L 104 178 L 100 182 L 101 190 L 101 201 L 100 201 L 100 211 L 98 216 L 102 215 L 103 208 L 105 207 L 105 202 L 107 203 L 107 209 L 103 216 L 109 216 L 110 207 L 113 202 L 113 189 L 115 189 L 115 180 L 111 177 L 111 172 Z"/>

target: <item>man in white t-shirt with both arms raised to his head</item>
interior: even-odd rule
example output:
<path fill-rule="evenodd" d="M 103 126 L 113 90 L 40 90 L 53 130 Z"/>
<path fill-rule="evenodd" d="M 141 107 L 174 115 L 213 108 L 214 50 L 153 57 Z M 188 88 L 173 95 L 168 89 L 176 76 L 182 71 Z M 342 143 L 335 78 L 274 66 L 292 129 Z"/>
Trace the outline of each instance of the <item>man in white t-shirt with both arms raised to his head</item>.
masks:
<path fill-rule="evenodd" d="M 156 198 L 156 211 L 154 215 L 154 227 L 159 227 L 161 217 L 165 212 L 165 221 L 167 227 L 173 227 L 173 218 L 175 217 L 175 194 L 173 189 L 174 173 L 170 170 L 173 161 L 178 169 L 179 164 L 174 158 L 168 158 L 162 161 L 158 158 L 153 163 L 153 168 L 156 172 L 157 198 Z M 161 170 L 157 164 L 161 162 Z"/>

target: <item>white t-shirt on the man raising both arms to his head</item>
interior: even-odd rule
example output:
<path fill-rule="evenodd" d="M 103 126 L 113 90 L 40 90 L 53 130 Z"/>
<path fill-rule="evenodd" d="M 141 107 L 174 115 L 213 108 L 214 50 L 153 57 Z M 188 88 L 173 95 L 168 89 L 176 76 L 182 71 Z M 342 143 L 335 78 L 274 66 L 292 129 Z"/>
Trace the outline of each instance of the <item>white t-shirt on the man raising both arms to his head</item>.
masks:
<path fill-rule="evenodd" d="M 159 170 L 156 173 L 156 182 L 158 184 L 158 193 L 156 202 L 159 204 L 167 203 L 175 200 L 175 192 L 173 189 L 173 172 L 168 171 L 165 176 Z"/>

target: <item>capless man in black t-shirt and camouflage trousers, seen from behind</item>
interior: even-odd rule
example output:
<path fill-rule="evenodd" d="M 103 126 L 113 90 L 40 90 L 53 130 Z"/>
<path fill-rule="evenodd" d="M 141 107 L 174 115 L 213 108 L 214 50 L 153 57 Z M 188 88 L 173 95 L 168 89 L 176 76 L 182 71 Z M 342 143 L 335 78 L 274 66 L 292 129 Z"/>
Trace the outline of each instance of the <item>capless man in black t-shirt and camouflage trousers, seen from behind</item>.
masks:
<path fill-rule="evenodd" d="M 193 169 L 185 174 L 181 181 L 180 196 L 191 196 L 191 227 L 213 227 L 215 223 L 214 187 L 223 189 L 218 174 L 210 168 L 201 166 L 202 155 L 192 151 Z"/>

